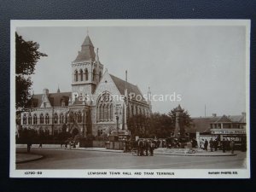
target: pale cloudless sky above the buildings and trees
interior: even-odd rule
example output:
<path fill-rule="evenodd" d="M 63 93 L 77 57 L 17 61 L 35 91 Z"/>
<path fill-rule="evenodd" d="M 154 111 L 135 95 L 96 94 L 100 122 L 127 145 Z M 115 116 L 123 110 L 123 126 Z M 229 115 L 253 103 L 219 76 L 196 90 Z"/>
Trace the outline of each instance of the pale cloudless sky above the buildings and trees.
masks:
<path fill-rule="evenodd" d="M 25 40 L 46 53 L 32 75 L 32 90 L 71 91 L 71 63 L 89 33 L 104 71 L 137 84 L 143 94 L 180 95 L 181 101 L 152 102 L 154 112 L 178 104 L 192 117 L 246 111 L 244 26 L 29 26 Z M 159 97 L 156 97 L 159 98 Z"/>

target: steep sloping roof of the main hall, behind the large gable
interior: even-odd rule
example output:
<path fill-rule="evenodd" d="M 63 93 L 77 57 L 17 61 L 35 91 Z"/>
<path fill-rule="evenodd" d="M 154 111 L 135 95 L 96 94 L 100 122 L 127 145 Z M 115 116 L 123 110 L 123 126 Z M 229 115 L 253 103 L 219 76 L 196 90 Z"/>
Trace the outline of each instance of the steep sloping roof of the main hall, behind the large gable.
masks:
<path fill-rule="evenodd" d="M 126 83 L 125 80 L 119 79 L 119 78 L 113 76 L 112 74 L 109 74 L 109 75 L 110 75 L 111 79 L 113 79 L 113 83 L 116 85 L 116 87 L 118 88 L 121 95 L 125 96 L 125 84 L 126 84 L 128 96 L 130 93 L 134 93 L 134 95 L 135 95 L 133 98 L 131 98 L 131 100 L 136 101 L 136 102 L 143 102 L 144 104 L 148 104 L 148 102 L 143 97 L 143 94 L 139 90 L 137 85 L 131 84 L 128 82 Z M 142 100 L 140 100 L 140 98 L 142 98 Z"/>

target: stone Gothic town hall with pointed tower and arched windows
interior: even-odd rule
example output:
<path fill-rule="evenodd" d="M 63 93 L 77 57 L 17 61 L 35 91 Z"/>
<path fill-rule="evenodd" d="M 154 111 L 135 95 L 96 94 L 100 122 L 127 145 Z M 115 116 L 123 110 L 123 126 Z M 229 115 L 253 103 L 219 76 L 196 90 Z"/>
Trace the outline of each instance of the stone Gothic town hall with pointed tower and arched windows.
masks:
<path fill-rule="evenodd" d="M 49 93 L 44 89 L 42 94 L 33 95 L 31 108 L 21 113 L 22 128 L 49 135 L 65 130 L 73 136 L 100 136 L 127 131 L 126 122 L 132 115 L 151 113 L 151 103 L 142 91 L 127 82 L 127 72 L 123 80 L 104 71 L 98 49 L 95 52 L 88 35 L 71 66 L 71 92 L 58 88 Z"/>

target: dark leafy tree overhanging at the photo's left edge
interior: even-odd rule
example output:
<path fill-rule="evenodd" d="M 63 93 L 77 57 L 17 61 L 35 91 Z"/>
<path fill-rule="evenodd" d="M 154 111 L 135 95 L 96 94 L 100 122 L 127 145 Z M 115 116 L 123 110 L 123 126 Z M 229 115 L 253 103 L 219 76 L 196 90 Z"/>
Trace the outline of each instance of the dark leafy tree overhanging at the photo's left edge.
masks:
<path fill-rule="evenodd" d="M 26 108 L 30 104 L 30 90 L 32 80 L 30 75 L 34 74 L 35 66 L 42 56 L 47 56 L 38 51 L 39 44 L 33 41 L 25 41 L 15 32 L 16 48 L 16 108 Z"/>

